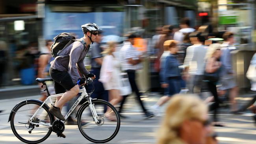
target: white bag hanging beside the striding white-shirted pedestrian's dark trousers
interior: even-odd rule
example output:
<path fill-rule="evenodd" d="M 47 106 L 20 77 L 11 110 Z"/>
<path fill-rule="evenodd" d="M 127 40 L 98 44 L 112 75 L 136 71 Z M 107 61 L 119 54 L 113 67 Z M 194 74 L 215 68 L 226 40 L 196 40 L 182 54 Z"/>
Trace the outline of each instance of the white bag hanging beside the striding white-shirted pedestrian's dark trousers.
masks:
<path fill-rule="evenodd" d="M 121 87 L 120 87 L 120 95 L 126 96 L 132 93 L 132 87 L 130 85 L 130 81 L 128 78 L 128 74 L 123 72 L 120 74 L 121 76 Z"/>

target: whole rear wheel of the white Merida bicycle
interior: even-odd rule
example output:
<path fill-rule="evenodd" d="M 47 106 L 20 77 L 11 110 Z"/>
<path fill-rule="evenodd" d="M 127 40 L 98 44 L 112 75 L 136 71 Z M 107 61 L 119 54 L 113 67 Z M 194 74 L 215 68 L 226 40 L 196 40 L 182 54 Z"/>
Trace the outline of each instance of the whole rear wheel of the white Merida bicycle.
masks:
<path fill-rule="evenodd" d="M 29 119 L 42 105 L 41 102 L 36 100 L 26 100 L 20 102 L 11 114 L 11 129 L 14 135 L 22 142 L 28 144 L 37 144 L 43 142 L 52 133 L 52 127 L 31 124 Z M 44 105 L 37 115 L 32 119 L 33 123 L 38 124 L 51 124 L 54 121 L 48 107 Z"/>

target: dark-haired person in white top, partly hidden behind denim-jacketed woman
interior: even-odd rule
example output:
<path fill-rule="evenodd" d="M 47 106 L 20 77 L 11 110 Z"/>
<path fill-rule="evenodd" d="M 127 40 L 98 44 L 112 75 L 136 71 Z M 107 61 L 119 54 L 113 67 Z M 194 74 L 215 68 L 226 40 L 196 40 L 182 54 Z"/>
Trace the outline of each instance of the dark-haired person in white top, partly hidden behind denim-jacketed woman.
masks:
<path fill-rule="evenodd" d="M 180 30 L 174 33 L 173 39 L 182 42 L 186 33 L 192 33 L 195 29 L 190 28 L 189 18 L 182 18 L 180 21 Z"/>

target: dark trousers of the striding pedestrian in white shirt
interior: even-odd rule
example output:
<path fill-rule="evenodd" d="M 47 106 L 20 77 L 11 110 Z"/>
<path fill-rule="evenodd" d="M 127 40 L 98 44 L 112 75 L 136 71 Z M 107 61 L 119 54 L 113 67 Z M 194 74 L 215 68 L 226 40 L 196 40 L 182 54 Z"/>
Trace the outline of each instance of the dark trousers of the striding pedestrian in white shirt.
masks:
<path fill-rule="evenodd" d="M 145 109 L 145 107 L 144 107 L 144 104 L 141 100 L 141 94 L 139 93 L 139 89 L 138 89 L 138 87 L 136 85 L 136 82 L 135 82 L 135 70 L 127 70 L 126 72 L 128 74 L 130 85 L 132 87 L 132 92 L 135 92 L 137 101 L 141 105 L 141 108 L 143 109 L 144 113 L 146 113 L 147 109 Z M 128 97 L 128 95 L 123 96 L 122 102 L 121 102 L 120 107 L 119 107 L 119 113 L 122 112 L 122 107 L 123 107 L 124 102 L 126 101 L 127 97 Z"/>

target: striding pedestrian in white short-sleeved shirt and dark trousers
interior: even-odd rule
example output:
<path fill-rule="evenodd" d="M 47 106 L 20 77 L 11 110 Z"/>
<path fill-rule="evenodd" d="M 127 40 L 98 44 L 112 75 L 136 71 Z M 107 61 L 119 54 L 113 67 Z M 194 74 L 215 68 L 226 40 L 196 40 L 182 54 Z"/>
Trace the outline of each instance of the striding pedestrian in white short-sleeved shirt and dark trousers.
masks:
<path fill-rule="evenodd" d="M 135 92 L 135 96 L 139 104 L 141 105 L 141 108 L 143 109 L 143 112 L 145 114 L 144 118 L 150 118 L 153 117 L 154 114 L 149 112 L 145 106 L 143 101 L 141 100 L 141 94 L 139 93 L 139 89 L 137 87 L 137 84 L 135 82 L 135 72 L 137 70 L 137 64 L 141 63 L 143 61 L 143 57 L 137 56 L 137 52 L 135 51 L 135 48 L 133 47 L 134 44 L 134 38 L 136 36 L 134 34 L 131 34 L 128 36 L 128 39 L 126 42 L 124 42 L 124 46 L 122 46 L 120 50 L 121 55 L 121 66 L 122 71 L 127 72 L 128 79 L 130 82 L 130 85 L 132 87 L 132 91 Z M 126 98 L 128 96 L 123 96 L 122 102 L 119 107 L 119 113 L 122 113 L 122 107 L 124 105 L 124 102 L 126 101 Z M 127 118 L 126 116 L 120 114 L 121 118 Z"/>

